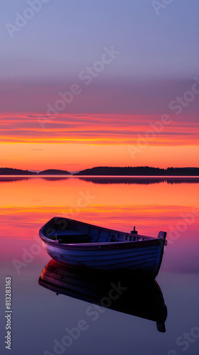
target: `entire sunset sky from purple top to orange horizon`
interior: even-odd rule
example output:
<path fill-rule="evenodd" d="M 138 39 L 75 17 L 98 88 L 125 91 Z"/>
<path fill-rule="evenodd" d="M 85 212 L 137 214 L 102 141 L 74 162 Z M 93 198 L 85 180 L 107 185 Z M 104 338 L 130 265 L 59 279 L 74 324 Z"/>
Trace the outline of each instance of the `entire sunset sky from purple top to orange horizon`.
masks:
<path fill-rule="evenodd" d="M 199 166 L 197 0 L 0 0 L 0 166 Z"/>

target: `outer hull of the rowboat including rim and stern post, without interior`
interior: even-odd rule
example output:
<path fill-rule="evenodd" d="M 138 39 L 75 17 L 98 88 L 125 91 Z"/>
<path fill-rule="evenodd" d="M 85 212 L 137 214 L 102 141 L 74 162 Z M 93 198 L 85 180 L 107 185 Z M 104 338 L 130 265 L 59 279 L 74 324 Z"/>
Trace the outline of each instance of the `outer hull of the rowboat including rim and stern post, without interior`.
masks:
<path fill-rule="evenodd" d="M 131 234 L 129 234 L 131 236 Z M 161 266 L 165 239 L 136 236 L 136 241 L 65 244 L 51 240 L 40 231 L 44 249 L 58 263 L 98 270 L 144 271 L 156 277 Z"/>

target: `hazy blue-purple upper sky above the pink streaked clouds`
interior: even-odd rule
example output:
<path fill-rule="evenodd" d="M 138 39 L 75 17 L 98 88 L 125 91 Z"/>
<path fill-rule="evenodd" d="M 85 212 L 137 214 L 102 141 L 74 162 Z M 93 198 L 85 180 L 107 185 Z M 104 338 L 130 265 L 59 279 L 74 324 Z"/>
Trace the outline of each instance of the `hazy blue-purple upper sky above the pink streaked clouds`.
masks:
<path fill-rule="evenodd" d="M 44 114 L 75 83 L 82 94 L 64 113 L 162 113 L 198 75 L 197 0 L 171 1 L 158 15 L 149 0 L 43 1 L 38 12 L 27 10 L 33 0 L 0 1 L 5 113 Z M 18 22 L 18 13 L 32 18 Z M 112 45 L 119 55 L 86 86 L 80 72 Z"/>

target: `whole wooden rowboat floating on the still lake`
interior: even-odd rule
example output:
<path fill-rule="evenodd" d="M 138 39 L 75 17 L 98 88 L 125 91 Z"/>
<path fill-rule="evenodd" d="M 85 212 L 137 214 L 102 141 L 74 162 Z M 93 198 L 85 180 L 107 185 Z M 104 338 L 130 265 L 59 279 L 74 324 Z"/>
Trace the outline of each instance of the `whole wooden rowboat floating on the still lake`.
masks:
<path fill-rule="evenodd" d="M 58 263 L 99 270 L 139 270 L 156 277 L 166 245 L 158 237 L 102 228 L 74 219 L 53 217 L 39 231 L 47 253 Z"/>

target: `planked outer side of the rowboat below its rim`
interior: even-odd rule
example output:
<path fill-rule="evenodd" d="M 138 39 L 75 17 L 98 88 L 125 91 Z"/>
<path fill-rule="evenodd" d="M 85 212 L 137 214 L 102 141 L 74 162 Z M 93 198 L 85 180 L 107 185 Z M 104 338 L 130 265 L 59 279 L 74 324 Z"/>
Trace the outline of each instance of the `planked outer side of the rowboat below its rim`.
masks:
<path fill-rule="evenodd" d="M 146 241 L 146 243 L 144 241 L 131 242 L 131 247 L 127 248 L 124 245 L 120 246 L 119 249 L 107 249 L 99 245 L 97 246 L 98 249 L 95 246 L 95 248 L 88 250 L 90 245 L 82 245 L 82 248 L 77 250 L 76 245 L 73 248 L 72 245 L 70 248 L 66 248 L 61 245 L 50 245 L 45 241 L 43 241 L 43 247 L 49 256 L 58 263 L 99 270 L 129 268 L 130 270 L 146 271 L 154 276 L 161 261 L 162 251 L 160 243 L 149 245 L 149 241 Z"/>

